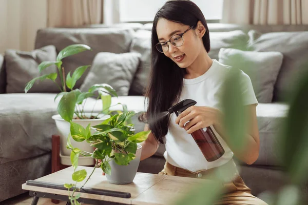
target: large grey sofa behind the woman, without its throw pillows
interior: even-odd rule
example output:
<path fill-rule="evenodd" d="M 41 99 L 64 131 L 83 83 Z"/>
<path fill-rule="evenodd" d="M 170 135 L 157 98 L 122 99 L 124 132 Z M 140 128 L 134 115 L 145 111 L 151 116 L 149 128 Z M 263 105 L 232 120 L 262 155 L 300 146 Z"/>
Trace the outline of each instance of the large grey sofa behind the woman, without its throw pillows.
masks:
<path fill-rule="evenodd" d="M 213 36 L 209 53 L 212 58 L 218 59 L 220 48 L 279 51 L 283 54 L 282 66 L 275 81 L 273 100 L 260 103 L 257 107 L 261 143 L 259 158 L 253 165 L 241 164 L 239 168 L 242 178 L 252 188 L 253 194 L 278 190 L 285 184 L 286 178 L 274 148 L 279 137 L 277 134 L 281 129 L 281 121 L 288 111 L 288 105 L 283 100 L 289 84 L 292 83 L 289 77 L 300 72 L 299 65 L 306 60 L 305 56 L 308 56 L 308 25 L 208 26 L 210 36 Z M 139 52 L 139 68 L 130 81 L 128 95 L 142 95 L 149 75 L 150 29 L 151 24 L 47 28 L 37 31 L 35 49 L 54 45 L 56 52 L 59 52 L 71 44 L 87 44 L 93 49 L 92 52 L 64 59 L 64 67 L 68 70 L 91 65 L 99 52 Z M 251 30 L 257 32 L 249 32 Z M 36 57 L 32 56 L 37 60 Z M 16 75 L 16 72 L 11 72 L 15 69 L 14 64 L 8 63 L 6 59 L 6 55 L 0 55 L 0 201 L 23 193 L 21 185 L 26 180 L 50 173 L 51 135 L 57 133 L 55 123 L 51 119 L 51 116 L 56 114 L 54 88 L 41 84 L 37 88 L 41 89 L 40 92 L 24 94 L 15 89 L 8 93 L 7 88 L 11 86 L 11 90 L 14 83 L 12 80 L 23 79 L 24 74 L 18 75 L 17 72 Z M 29 65 L 25 64 L 24 71 L 27 71 Z M 15 73 L 15 76 L 12 76 L 12 73 Z M 112 71 L 106 75 L 113 75 Z M 82 86 L 85 77 L 86 75 L 78 81 L 77 87 Z M 113 83 L 116 85 L 117 81 Z M 134 104 L 132 100 L 133 98 L 124 101 Z M 140 130 L 143 125 L 138 124 L 137 127 Z M 163 152 L 164 146 L 161 146 L 155 155 L 141 161 L 139 171 L 161 171 L 165 163 Z M 303 188 L 303 193 L 307 197 L 308 186 Z"/>

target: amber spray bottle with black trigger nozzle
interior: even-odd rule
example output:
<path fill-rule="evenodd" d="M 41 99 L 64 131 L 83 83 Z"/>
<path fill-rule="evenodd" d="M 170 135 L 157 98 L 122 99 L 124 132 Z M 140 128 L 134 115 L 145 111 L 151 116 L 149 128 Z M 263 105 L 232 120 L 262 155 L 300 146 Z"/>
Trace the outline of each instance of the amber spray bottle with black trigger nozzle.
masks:
<path fill-rule="evenodd" d="M 196 104 L 197 102 L 195 100 L 184 99 L 177 105 L 169 108 L 168 112 L 170 114 L 174 112 L 177 116 L 179 116 L 181 112 Z M 210 127 L 201 128 L 191 133 L 191 135 L 195 139 L 207 161 L 215 161 L 225 153 L 215 133 Z"/>

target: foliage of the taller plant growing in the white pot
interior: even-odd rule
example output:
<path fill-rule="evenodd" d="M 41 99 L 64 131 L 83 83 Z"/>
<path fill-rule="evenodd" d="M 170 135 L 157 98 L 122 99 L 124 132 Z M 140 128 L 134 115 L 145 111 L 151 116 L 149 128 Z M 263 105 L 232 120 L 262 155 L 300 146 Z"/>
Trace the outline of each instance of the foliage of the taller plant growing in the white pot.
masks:
<path fill-rule="evenodd" d="M 115 90 L 108 84 L 95 84 L 88 90 L 88 92 L 81 92 L 79 89 L 74 89 L 76 81 L 81 78 L 81 76 L 90 67 L 90 65 L 80 66 L 76 68 L 72 74 L 71 72 L 68 72 L 66 76 L 65 69 L 62 67 L 63 58 L 91 50 L 92 49 L 87 45 L 74 44 L 61 50 L 56 57 L 56 61 L 43 61 L 40 65 L 38 65 L 38 71 L 40 71 L 40 73 L 52 65 L 57 67 L 58 72 L 49 73 L 33 78 L 26 84 L 25 92 L 27 93 L 37 80 L 52 80 L 60 90 L 60 93 L 55 96 L 54 100 L 56 100 L 57 97 L 62 96 L 57 105 L 57 112 L 64 120 L 68 122 L 73 119 L 74 114 L 75 118 L 77 119 L 97 118 L 98 114 L 95 116 L 86 116 L 84 106 L 86 104 L 87 98 L 93 97 L 95 92 L 99 92 L 98 98 L 102 99 L 103 104 L 102 113 L 107 114 L 111 105 L 111 96 L 118 96 L 117 92 L 115 92 Z M 58 77 L 60 78 L 61 85 L 59 85 L 59 83 L 56 81 Z M 91 114 L 92 113 L 93 110 Z"/>

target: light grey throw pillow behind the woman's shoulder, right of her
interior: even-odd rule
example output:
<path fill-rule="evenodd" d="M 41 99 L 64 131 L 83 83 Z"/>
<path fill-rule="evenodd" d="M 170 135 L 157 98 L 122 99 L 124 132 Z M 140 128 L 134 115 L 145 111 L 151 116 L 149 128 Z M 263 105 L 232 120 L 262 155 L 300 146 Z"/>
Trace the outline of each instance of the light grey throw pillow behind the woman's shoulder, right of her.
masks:
<path fill-rule="evenodd" d="M 252 80 L 259 103 L 271 103 L 283 55 L 280 52 L 241 51 L 225 49 L 219 51 L 222 64 L 244 71 Z"/>

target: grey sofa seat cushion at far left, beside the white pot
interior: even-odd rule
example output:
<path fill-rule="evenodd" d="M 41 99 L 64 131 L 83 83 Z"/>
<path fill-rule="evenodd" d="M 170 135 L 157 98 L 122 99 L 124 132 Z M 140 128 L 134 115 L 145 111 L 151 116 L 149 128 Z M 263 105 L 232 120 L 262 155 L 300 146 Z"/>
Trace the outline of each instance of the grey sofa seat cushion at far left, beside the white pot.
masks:
<path fill-rule="evenodd" d="M 51 151 L 56 94 L 0 94 L 0 164 Z"/>

